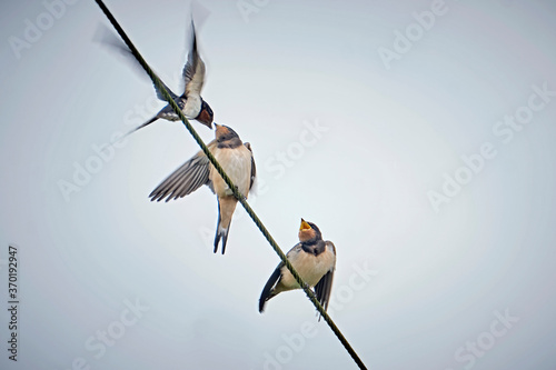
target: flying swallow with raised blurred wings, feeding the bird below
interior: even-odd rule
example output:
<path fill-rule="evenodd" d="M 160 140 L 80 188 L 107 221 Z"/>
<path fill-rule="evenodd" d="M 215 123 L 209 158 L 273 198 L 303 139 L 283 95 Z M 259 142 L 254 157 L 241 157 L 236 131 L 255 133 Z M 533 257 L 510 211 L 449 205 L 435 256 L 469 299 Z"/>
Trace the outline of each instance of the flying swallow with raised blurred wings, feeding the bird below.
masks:
<path fill-rule="evenodd" d="M 187 58 L 187 63 L 182 70 L 182 78 L 185 81 L 185 90 L 181 96 L 177 96 L 173 93 L 163 82 L 162 86 L 170 93 L 172 100 L 178 104 L 179 109 L 183 112 L 183 114 L 188 119 L 193 119 L 199 121 L 200 123 L 207 126 L 209 129 L 212 129 L 212 119 L 215 117 L 212 109 L 210 106 L 201 98 L 202 84 L 205 83 L 205 62 L 199 56 L 197 50 L 197 38 L 195 34 L 195 24 L 191 20 L 191 29 L 192 29 L 192 42 L 191 49 L 189 50 L 189 56 Z M 105 31 L 107 33 L 107 31 Z M 116 38 L 113 33 L 108 33 L 102 37 L 102 42 L 110 44 L 117 49 L 120 49 L 123 54 L 128 57 L 132 57 L 129 48 L 121 42 L 120 39 Z M 137 62 L 133 58 L 133 62 Z M 160 100 L 166 101 L 162 96 L 162 92 L 155 86 L 155 90 L 157 91 L 157 97 Z M 162 108 L 155 117 L 152 117 L 147 122 L 133 129 L 131 132 L 135 132 L 139 129 L 142 129 L 146 126 L 155 122 L 158 119 L 165 119 L 168 121 L 179 121 L 178 114 L 173 111 L 170 104 L 167 104 Z"/>

